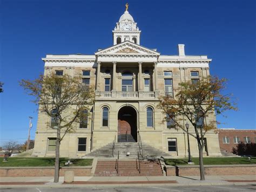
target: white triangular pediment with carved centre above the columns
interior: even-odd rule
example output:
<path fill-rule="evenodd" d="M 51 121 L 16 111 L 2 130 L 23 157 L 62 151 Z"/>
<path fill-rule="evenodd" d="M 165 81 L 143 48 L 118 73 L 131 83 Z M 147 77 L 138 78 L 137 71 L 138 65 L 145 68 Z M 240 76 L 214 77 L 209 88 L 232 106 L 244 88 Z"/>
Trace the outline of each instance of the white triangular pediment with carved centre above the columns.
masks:
<path fill-rule="evenodd" d="M 117 45 L 102 49 L 95 53 L 96 55 L 160 55 L 159 52 L 152 49 L 125 41 Z"/>

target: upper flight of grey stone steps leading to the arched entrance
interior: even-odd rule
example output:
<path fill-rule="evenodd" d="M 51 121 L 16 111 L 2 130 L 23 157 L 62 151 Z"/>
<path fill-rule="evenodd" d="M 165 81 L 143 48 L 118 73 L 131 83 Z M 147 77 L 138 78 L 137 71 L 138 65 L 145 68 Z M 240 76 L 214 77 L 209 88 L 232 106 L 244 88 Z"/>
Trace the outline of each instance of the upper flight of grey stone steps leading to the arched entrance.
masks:
<path fill-rule="evenodd" d="M 112 147 L 113 144 L 107 144 L 95 151 L 92 151 L 91 153 L 85 155 L 84 157 L 105 157 L 105 158 L 117 158 L 118 151 L 119 151 L 119 158 L 137 158 L 138 151 L 139 151 L 139 145 L 138 143 L 116 143 L 114 147 L 114 154 L 112 156 Z M 127 155 L 127 153 L 130 153 Z M 143 158 L 160 158 L 163 157 L 169 157 L 171 158 L 170 154 L 163 153 L 160 150 L 157 150 L 156 148 L 143 144 Z"/>

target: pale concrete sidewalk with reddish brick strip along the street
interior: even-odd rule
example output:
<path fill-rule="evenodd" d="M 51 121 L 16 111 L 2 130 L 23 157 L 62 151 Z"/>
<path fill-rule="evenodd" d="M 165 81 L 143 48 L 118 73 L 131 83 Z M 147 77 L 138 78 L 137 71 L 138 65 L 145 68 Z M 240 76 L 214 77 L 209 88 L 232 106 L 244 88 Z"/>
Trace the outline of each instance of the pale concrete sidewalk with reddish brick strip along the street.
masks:
<path fill-rule="evenodd" d="M 106 186 L 214 186 L 256 184 L 255 175 L 208 175 L 205 181 L 199 176 L 75 176 L 73 183 L 58 183 L 53 177 L 0 177 L 0 188 L 30 187 L 106 187 Z"/>

